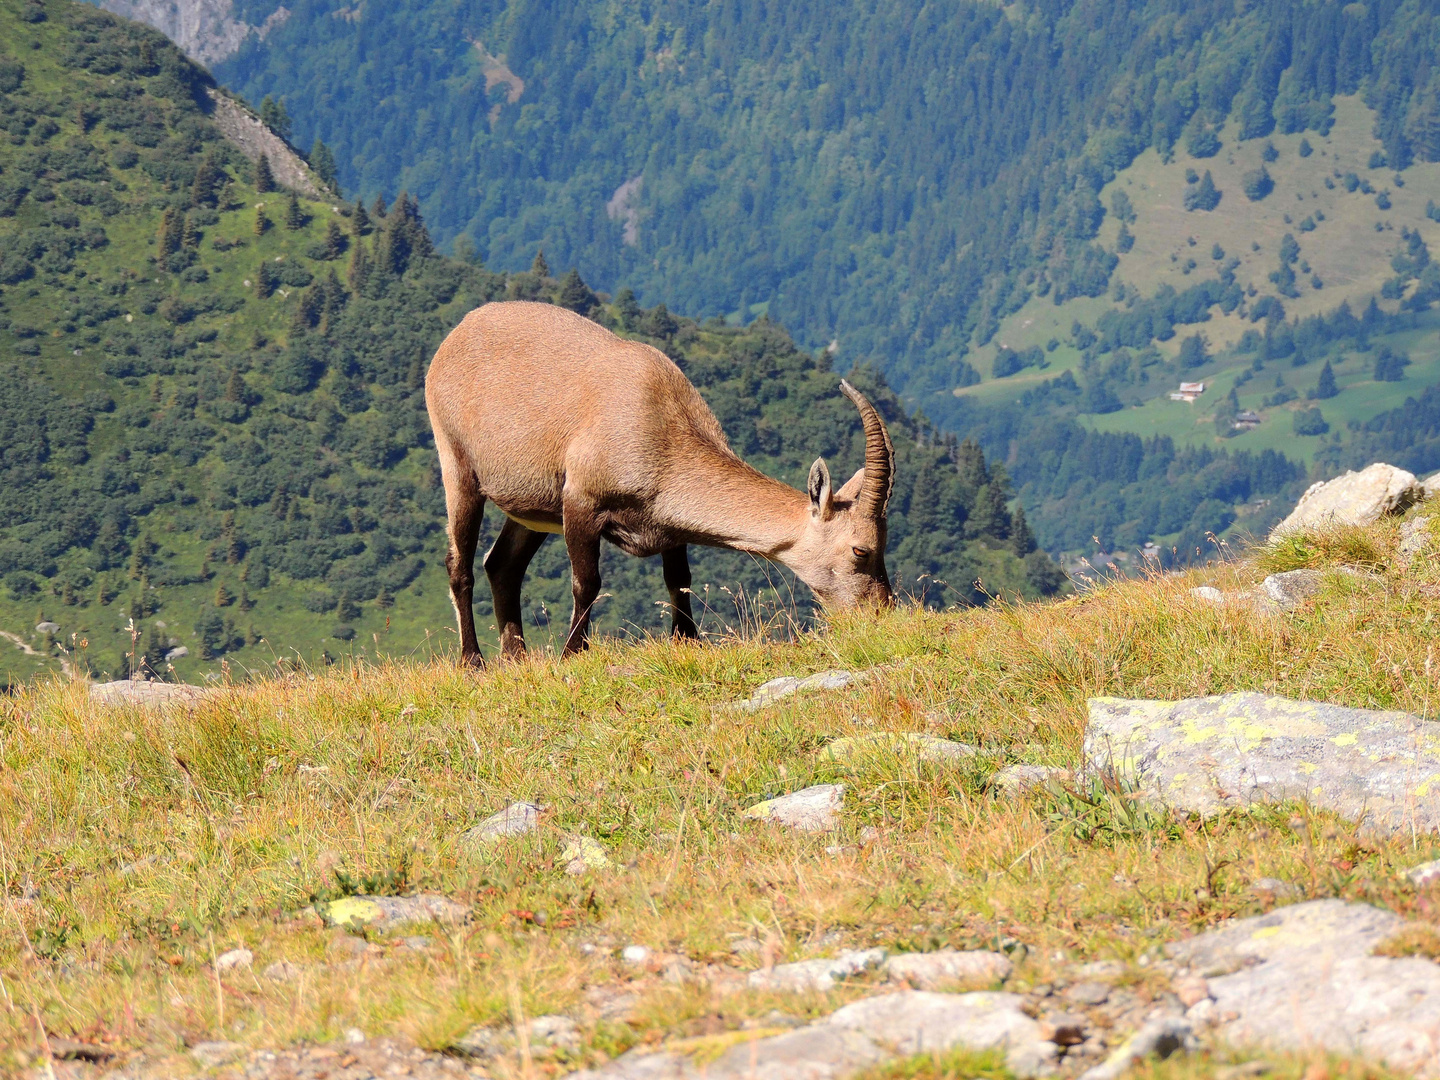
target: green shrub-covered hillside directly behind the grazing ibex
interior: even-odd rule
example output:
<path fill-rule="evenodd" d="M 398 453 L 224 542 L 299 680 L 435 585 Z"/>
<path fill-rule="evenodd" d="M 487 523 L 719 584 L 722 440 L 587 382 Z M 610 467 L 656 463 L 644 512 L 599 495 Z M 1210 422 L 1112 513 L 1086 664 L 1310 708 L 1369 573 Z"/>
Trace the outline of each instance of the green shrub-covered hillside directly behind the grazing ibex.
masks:
<path fill-rule="evenodd" d="M 94 7 L 0 0 L 0 629 L 17 645 L 0 642 L 0 672 L 32 672 L 56 642 L 109 672 L 164 670 L 184 648 L 189 678 L 444 647 L 423 374 L 487 300 L 564 304 L 652 341 L 773 475 L 799 484 L 819 454 L 841 475 L 863 458 L 827 354 L 768 320 L 700 324 L 598 297 L 543 259 L 504 275 L 441 256 L 409 196 L 275 190 L 268 163 L 212 122 L 209 76 Z M 854 377 L 894 433 L 901 586 L 932 603 L 1057 589 L 1005 474 L 909 418 L 878 376 Z M 703 554 L 696 570 L 711 629 L 763 618 L 757 603 L 809 611 L 773 567 Z M 569 615 L 563 547 L 531 576 L 543 639 Z M 605 577 L 602 629 L 664 625 L 658 566 L 611 552 Z"/>

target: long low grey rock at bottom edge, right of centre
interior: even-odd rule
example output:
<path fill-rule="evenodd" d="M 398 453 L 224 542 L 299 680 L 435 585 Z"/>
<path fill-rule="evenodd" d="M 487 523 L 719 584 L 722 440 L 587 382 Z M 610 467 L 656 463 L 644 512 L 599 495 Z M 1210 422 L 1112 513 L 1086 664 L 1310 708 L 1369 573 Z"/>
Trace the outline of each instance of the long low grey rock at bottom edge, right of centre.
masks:
<path fill-rule="evenodd" d="M 632 1050 L 573 1080 L 840 1080 L 894 1057 L 946 1050 L 1002 1050 L 1017 1076 L 1053 1068 L 1056 1047 L 1014 994 L 909 991 L 865 998 L 785 1034 L 732 1032 Z M 706 1051 L 721 1048 L 708 1061 Z"/>

